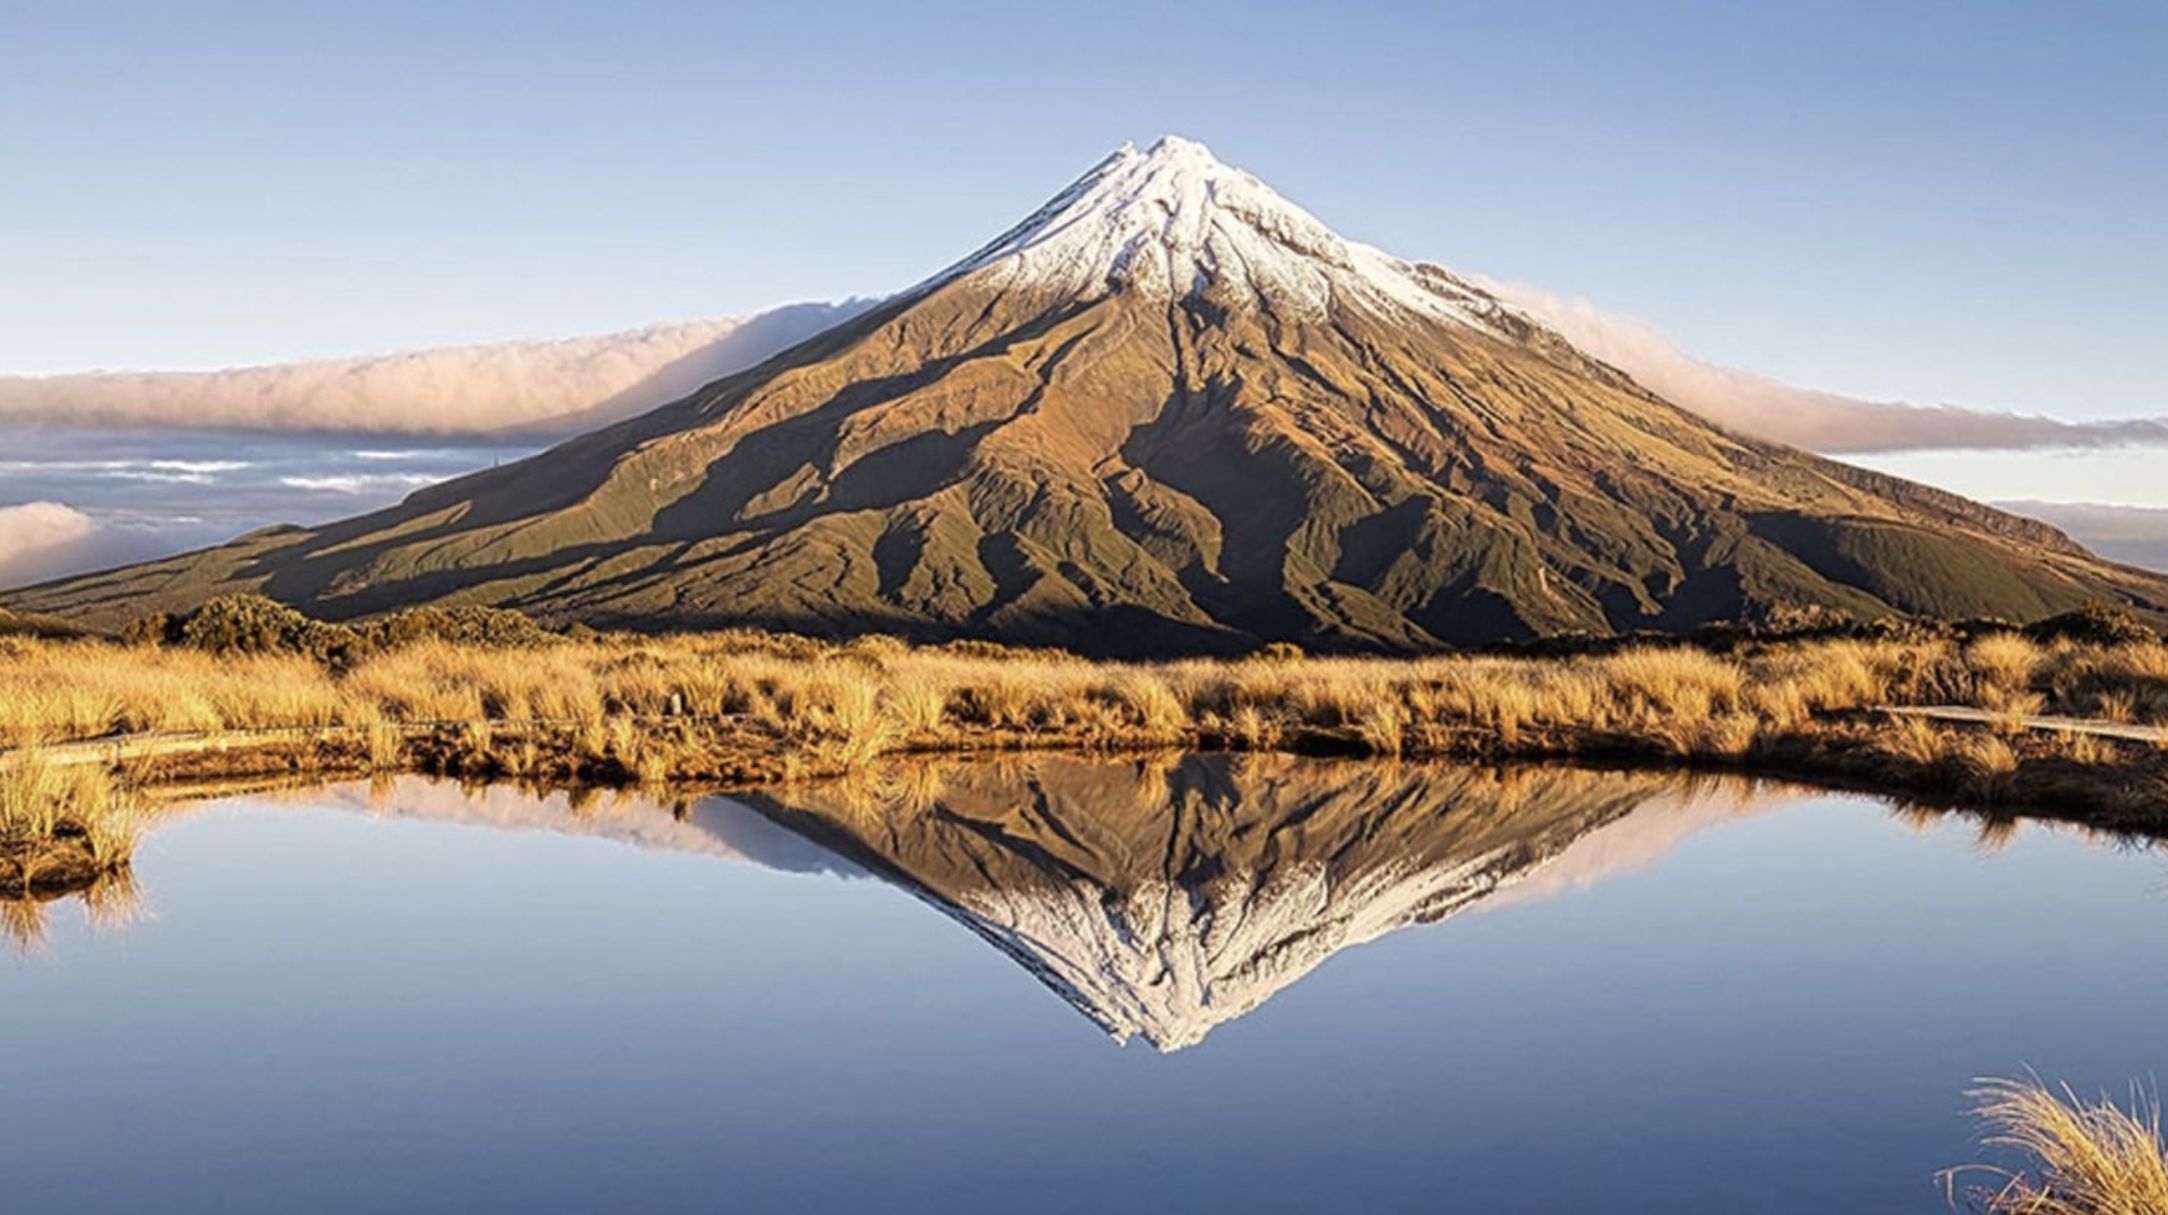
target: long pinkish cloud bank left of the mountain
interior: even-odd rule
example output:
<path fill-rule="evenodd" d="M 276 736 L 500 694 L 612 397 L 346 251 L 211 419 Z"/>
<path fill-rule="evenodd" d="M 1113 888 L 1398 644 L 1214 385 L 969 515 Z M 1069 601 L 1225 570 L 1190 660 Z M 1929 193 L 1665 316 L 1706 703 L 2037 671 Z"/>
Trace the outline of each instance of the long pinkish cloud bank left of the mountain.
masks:
<path fill-rule="evenodd" d="M 228 371 L 7 375 L 0 425 L 572 434 L 674 401 L 865 306 Z"/>

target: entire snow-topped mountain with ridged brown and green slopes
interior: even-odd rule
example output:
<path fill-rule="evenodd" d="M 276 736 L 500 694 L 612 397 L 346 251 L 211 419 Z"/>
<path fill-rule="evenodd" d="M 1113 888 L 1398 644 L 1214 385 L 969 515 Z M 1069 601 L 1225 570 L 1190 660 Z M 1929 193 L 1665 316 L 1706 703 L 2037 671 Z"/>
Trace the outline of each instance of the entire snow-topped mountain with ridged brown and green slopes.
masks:
<path fill-rule="evenodd" d="M 1173 137 L 670 406 L 0 603 L 119 623 L 230 590 L 1091 653 L 2168 610 L 2044 523 L 1726 434 Z"/>

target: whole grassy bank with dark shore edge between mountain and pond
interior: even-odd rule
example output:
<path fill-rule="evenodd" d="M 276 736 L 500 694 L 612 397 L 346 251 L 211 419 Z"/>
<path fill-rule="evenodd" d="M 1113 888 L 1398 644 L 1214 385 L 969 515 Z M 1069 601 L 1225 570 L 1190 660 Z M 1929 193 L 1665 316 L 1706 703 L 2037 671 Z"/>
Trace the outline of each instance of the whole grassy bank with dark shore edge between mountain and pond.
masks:
<path fill-rule="evenodd" d="M 1589 757 L 1739 766 L 2168 829 L 2159 746 L 2016 727 L 2036 712 L 2168 720 L 2168 647 L 2146 636 L 1921 631 L 1724 653 L 1411 660 L 1281 647 L 1160 664 L 746 631 L 386 629 L 371 644 L 327 649 L 284 638 L 0 640 L 0 749 L 186 731 L 197 742 L 137 759 L 137 775 L 321 766 L 607 783 L 791 779 L 898 751 L 1043 746 Z M 1877 705 L 1973 705 L 1997 720 L 1893 722 Z M 249 731 L 295 727 L 308 733 L 236 746 Z"/>

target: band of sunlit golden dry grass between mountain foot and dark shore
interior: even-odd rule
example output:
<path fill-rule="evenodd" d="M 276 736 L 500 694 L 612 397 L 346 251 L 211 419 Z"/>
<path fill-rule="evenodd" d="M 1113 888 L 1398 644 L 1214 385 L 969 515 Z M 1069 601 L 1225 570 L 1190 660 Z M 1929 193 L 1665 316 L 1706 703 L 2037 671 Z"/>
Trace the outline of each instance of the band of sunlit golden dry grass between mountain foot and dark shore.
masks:
<path fill-rule="evenodd" d="M 1977 649 L 1977 647 L 1975 647 Z M 1398 716 L 1502 736 L 1654 731 L 1743 720 L 1791 729 L 1812 714 L 1908 699 L 1897 670 L 1936 655 L 1823 642 L 1750 657 L 1630 649 L 1554 662 L 1507 657 L 1091 664 L 1012 651 L 824 647 L 744 634 L 603 638 L 542 651 L 423 642 L 330 673 L 299 657 L 52 642 L 0 653 L 0 746 L 130 731 L 568 722 L 744 714 L 800 736 L 850 736 L 869 716 L 902 736 L 958 729 L 1084 731 L 1106 742 L 1182 738 L 1201 720 L 1247 736 L 1348 729 Z M 1947 657 L 1947 655 L 1943 655 Z M 867 686 L 874 703 L 843 703 Z M 1247 714 L 1244 714 L 1247 712 Z M 1737 720 L 1728 720 L 1737 718 Z M 1372 729 L 1381 744 L 1392 731 Z"/>

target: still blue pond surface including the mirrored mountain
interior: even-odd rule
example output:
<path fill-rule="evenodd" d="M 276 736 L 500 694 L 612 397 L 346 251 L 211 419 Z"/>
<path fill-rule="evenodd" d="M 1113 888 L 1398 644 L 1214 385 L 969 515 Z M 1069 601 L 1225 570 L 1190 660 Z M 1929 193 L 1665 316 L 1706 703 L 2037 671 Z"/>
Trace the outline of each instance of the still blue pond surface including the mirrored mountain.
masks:
<path fill-rule="evenodd" d="M 1294 759 L 180 807 L 9 909 L 0 1208 L 1945 1211 L 2168 1063 L 2168 864 Z"/>

